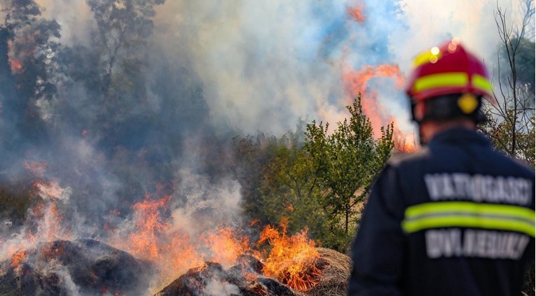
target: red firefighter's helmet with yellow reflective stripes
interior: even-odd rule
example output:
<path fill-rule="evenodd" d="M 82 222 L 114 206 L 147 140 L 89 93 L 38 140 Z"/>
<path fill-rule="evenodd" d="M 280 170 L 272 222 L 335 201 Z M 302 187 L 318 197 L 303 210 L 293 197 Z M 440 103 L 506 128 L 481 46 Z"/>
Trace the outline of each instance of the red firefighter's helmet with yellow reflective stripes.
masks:
<path fill-rule="evenodd" d="M 453 38 L 418 55 L 406 93 L 418 103 L 444 94 L 475 94 L 493 98 L 486 66 Z"/>

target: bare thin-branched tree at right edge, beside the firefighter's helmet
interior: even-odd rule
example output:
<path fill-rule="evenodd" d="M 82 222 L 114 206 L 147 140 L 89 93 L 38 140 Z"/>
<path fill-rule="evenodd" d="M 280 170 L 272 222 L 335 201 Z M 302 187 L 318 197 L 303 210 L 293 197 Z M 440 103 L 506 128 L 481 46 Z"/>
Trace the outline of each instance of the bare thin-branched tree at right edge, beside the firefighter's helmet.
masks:
<path fill-rule="evenodd" d="M 528 1 L 532 3 L 533 1 Z M 506 13 L 497 7 L 495 21 L 501 40 L 497 52 L 497 85 L 494 90 L 496 104 L 487 104 L 488 122 L 481 131 L 488 135 L 498 150 L 511 157 L 523 160 L 532 166 L 535 163 L 535 108 L 534 108 L 534 42 L 523 38 L 533 12 L 525 12 L 523 22 L 509 26 Z M 525 61 L 532 60 L 531 66 Z M 523 62 L 521 62 L 523 61 Z M 506 65 L 506 70 L 503 67 Z M 528 73 L 525 73 L 528 71 Z"/>

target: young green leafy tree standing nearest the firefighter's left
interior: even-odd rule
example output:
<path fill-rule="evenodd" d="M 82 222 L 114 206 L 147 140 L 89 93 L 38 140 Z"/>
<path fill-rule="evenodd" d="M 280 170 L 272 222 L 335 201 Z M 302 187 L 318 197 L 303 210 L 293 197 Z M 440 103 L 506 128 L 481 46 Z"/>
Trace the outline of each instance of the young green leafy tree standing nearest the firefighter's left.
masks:
<path fill-rule="evenodd" d="M 305 142 L 325 190 L 322 206 L 329 211 L 331 230 L 343 234 L 341 246 L 348 244 L 350 229 L 357 223 L 357 205 L 364 202 L 374 176 L 394 148 L 392 124 L 382 127 L 380 138 L 374 139 L 371 121 L 363 113 L 361 95 L 347 109 L 350 119 L 338 122 L 333 134 L 328 132 L 328 123 L 317 125 L 313 121 L 307 125 Z"/>

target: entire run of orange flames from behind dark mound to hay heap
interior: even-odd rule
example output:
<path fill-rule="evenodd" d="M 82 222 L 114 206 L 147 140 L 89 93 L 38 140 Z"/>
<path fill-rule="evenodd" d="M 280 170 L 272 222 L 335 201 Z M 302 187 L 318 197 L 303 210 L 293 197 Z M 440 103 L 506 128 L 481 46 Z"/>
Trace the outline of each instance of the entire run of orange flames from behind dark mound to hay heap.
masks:
<path fill-rule="evenodd" d="M 205 262 L 218 262 L 228 268 L 242 255 L 252 255 L 264 264 L 263 274 L 279 279 L 297 290 L 307 290 L 317 283 L 321 274 L 315 264 L 319 258 L 315 243 L 308 239 L 307 231 L 287 236 L 287 220 L 282 220 L 282 230 L 268 226 L 261 233 L 256 246 L 268 244 L 270 252 L 260 253 L 252 249 L 249 237 L 237 228 L 217 227 L 192 236 L 181 229 L 174 229 L 165 218 L 171 197 L 166 195 L 151 199 L 146 195 L 142 202 L 132 206 L 133 227 L 128 232 L 116 230 L 115 239 L 109 244 L 128 251 L 137 258 L 150 260 L 158 268 L 158 283 L 154 288 L 168 284 L 188 269 L 206 268 Z M 127 239 L 123 239 L 123 238 Z M 253 281 L 259 274 L 247 273 L 245 279 Z"/>

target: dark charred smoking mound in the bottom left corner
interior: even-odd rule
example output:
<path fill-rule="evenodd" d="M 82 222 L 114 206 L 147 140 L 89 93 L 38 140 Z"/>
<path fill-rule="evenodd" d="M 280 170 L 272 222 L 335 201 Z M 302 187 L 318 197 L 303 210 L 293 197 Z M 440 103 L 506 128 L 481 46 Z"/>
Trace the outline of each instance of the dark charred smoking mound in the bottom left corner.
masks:
<path fill-rule="evenodd" d="M 1 295 L 145 295 L 154 267 L 92 239 L 50 241 L 1 262 Z"/>

